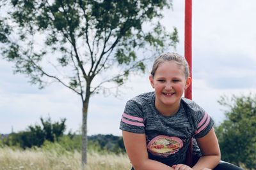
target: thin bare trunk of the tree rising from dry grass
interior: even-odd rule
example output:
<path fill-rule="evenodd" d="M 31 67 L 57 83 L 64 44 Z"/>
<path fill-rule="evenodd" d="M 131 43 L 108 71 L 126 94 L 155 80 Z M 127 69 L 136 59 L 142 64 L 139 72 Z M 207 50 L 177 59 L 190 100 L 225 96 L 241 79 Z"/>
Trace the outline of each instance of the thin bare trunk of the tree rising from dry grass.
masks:
<path fill-rule="evenodd" d="M 90 100 L 90 86 L 86 87 L 86 97 L 83 101 L 83 123 L 82 123 L 82 170 L 86 170 L 87 164 L 87 114 Z"/>

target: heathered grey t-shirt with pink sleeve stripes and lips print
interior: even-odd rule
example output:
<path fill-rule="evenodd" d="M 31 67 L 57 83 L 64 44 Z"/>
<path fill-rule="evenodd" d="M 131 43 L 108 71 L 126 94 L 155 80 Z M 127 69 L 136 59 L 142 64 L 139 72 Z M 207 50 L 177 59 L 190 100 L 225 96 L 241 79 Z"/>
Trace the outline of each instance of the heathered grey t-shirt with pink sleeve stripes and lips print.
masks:
<path fill-rule="evenodd" d="M 168 166 L 184 164 L 189 140 L 205 136 L 214 122 L 189 99 L 182 98 L 179 111 L 170 117 L 159 113 L 154 103 L 154 92 L 127 101 L 120 129 L 146 135 L 149 159 Z"/>

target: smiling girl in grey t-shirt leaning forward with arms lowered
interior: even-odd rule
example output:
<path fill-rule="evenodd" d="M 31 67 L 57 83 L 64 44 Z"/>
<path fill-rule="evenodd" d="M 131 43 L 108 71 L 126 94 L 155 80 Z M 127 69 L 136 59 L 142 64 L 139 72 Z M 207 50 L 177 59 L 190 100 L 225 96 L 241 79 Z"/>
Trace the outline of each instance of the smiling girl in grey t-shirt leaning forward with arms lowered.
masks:
<path fill-rule="evenodd" d="M 220 148 L 214 122 L 198 104 L 182 97 L 191 83 L 188 62 L 177 53 L 164 53 L 155 60 L 149 80 L 154 92 L 129 100 L 120 123 L 132 169 L 217 170 Z M 192 138 L 200 150 L 195 166 L 189 167 L 186 152 Z"/>

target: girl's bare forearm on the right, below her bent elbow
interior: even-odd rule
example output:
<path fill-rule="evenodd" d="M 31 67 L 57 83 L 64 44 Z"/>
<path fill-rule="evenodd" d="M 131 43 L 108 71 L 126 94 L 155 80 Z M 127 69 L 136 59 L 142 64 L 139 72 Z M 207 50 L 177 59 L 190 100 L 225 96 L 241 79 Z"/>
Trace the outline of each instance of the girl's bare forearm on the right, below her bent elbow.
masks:
<path fill-rule="evenodd" d="M 220 163 L 220 155 L 204 155 L 200 157 L 193 170 L 200 170 L 205 167 L 209 169 L 214 169 Z"/>

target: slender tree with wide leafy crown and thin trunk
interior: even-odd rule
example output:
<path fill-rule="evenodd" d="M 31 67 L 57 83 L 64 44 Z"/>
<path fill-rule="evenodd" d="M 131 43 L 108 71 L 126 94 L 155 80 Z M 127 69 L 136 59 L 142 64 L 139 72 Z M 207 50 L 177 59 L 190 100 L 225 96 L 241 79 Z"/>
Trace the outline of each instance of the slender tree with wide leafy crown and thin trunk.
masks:
<path fill-rule="evenodd" d="M 171 0 L 3 0 L 0 5 L 6 11 L 0 18 L 1 51 L 15 63 L 15 73 L 40 88 L 57 81 L 81 97 L 83 165 L 90 97 L 113 93 L 178 42 L 177 29 L 169 33 L 159 22 Z"/>

